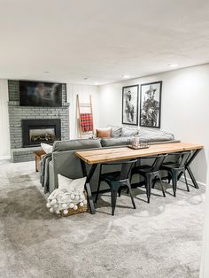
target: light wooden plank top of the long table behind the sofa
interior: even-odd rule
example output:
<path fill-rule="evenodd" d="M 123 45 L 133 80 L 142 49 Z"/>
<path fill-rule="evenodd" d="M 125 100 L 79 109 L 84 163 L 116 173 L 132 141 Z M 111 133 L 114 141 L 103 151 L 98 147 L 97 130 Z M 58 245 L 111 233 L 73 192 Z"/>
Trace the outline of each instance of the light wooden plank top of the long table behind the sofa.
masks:
<path fill-rule="evenodd" d="M 98 164 L 131 158 L 143 158 L 178 151 L 193 151 L 203 148 L 203 145 L 194 143 L 160 143 L 151 145 L 148 149 L 141 150 L 132 150 L 124 146 L 120 148 L 76 151 L 75 154 L 89 164 Z"/>

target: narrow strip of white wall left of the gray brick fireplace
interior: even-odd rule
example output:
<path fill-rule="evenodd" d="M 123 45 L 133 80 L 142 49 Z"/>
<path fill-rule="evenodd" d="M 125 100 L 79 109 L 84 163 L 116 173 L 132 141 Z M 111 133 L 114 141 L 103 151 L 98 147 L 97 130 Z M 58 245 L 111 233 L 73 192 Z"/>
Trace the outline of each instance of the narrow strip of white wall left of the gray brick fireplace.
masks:
<path fill-rule="evenodd" d="M 10 131 L 8 114 L 8 85 L 0 80 L 0 159 L 10 158 Z"/>

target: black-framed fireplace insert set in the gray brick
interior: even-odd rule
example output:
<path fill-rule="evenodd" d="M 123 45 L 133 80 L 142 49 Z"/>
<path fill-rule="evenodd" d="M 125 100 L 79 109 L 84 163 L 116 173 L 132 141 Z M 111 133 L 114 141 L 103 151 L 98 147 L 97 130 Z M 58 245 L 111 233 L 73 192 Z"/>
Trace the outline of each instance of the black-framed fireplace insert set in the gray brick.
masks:
<path fill-rule="evenodd" d="M 23 147 L 61 140 L 60 120 L 22 120 Z"/>

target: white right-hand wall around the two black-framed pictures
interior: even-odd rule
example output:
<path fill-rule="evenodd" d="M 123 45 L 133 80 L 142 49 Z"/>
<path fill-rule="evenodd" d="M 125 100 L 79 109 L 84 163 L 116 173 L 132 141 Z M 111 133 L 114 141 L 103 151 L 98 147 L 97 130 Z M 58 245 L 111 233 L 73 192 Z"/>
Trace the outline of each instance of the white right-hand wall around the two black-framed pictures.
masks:
<path fill-rule="evenodd" d="M 161 129 L 182 142 L 202 143 L 209 150 L 209 65 L 100 86 L 100 127 L 121 125 L 122 87 L 163 81 Z M 140 98 L 140 97 L 139 97 Z M 199 183 L 206 183 L 207 163 L 202 151 L 192 165 Z"/>

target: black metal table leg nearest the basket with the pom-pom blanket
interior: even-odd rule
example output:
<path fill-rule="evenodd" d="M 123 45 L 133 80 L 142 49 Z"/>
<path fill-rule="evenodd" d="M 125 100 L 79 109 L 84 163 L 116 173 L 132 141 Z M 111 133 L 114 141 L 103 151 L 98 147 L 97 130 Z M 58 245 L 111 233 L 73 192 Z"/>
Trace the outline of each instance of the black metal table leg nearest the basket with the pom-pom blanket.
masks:
<path fill-rule="evenodd" d="M 87 176 L 87 181 L 86 181 L 85 187 L 87 190 L 87 197 L 88 197 L 88 201 L 89 201 L 89 210 L 90 210 L 91 214 L 95 214 L 96 210 L 95 210 L 94 201 L 93 201 L 93 198 L 91 195 L 89 181 L 92 178 L 92 175 L 94 174 L 94 172 L 97 168 L 97 164 L 93 164 L 90 168 L 89 174 L 87 174 L 87 168 L 86 168 L 85 162 L 82 159 L 80 159 L 80 161 L 81 161 L 82 174 L 83 174 L 83 176 Z"/>

